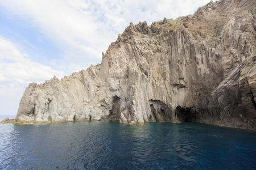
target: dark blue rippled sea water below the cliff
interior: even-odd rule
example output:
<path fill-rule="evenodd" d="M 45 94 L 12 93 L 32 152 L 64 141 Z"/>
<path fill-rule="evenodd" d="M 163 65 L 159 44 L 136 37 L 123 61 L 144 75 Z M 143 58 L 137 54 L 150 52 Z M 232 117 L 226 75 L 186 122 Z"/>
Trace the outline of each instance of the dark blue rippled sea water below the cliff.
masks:
<path fill-rule="evenodd" d="M 256 169 L 256 132 L 168 122 L 0 124 L 0 169 Z"/>

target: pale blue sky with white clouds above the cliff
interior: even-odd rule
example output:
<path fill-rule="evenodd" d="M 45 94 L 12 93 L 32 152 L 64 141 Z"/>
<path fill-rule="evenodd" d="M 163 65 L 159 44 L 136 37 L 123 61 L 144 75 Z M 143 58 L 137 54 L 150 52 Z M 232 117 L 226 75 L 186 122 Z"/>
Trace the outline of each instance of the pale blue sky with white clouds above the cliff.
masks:
<path fill-rule="evenodd" d="M 125 28 L 193 14 L 210 0 L 1 0 L 0 115 L 14 115 L 31 82 L 101 62 Z"/>

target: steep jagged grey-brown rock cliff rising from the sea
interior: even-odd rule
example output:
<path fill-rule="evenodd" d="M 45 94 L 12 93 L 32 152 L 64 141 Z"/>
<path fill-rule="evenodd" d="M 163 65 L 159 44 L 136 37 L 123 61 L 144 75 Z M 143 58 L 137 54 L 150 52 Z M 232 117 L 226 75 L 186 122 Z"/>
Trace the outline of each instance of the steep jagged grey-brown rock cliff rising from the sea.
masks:
<path fill-rule="evenodd" d="M 221 0 L 176 20 L 131 23 L 101 64 L 31 83 L 16 121 L 192 121 L 256 130 L 255 6 Z"/>

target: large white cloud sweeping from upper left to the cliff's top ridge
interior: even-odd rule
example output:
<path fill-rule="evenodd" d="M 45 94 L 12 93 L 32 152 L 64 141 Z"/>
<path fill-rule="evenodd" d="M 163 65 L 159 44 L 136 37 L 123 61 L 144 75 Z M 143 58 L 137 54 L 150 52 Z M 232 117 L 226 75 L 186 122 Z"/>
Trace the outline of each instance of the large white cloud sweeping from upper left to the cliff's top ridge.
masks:
<path fill-rule="evenodd" d="M 51 39 L 68 65 L 86 69 L 101 61 L 110 42 L 130 22 L 148 24 L 166 18 L 191 14 L 209 0 L 2 0 L 0 5 L 28 20 Z M 71 69 L 71 68 L 69 68 Z"/>

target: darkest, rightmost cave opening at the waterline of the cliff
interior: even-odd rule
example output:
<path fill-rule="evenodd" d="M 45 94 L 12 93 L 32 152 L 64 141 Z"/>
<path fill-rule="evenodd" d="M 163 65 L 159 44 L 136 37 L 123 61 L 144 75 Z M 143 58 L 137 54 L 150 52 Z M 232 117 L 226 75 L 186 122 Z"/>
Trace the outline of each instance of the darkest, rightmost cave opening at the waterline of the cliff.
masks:
<path fill-rule="evenodd" d="M 192 108 L 181 107 L 178 105 L 176 107 L 176 115 L 180 122 L 196 122 L 196 111 Z"/>

